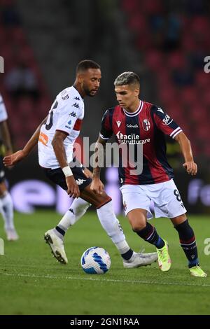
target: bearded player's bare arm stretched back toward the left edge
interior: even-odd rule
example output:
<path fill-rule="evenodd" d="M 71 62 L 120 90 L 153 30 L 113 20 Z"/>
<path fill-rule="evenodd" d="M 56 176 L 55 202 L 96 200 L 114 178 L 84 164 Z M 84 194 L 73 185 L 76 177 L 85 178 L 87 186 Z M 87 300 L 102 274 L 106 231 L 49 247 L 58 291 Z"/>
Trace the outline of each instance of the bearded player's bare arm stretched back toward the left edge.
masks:
<path fill-rule="evenodd" d="M 39 134 L 40 134 L 41 126 L 43 125 L 43 123 L 46 122 L 46 120 L 47 120 L 47 118 L 45 118 L 41 122 L 41 124 L 38 125 L 38 127 L 36 128 L 36 131 L 31 136 L 29 141 L 27 141 L 27 144 L 25 145 L 25 147 L 22 150 L 17 151 L 13 154 L 7 155 L 6 157 L 3 158 L 3 165 L 5 165 L 6 167 L 16 165 L 16 163 L 20 162 L 21 160 L 26 158 L 27 155 L 29 155 L 29 153 L 31 153 L 34 146 L 36 144 L 38 144 L 38 137 L 39 137 Z"/>

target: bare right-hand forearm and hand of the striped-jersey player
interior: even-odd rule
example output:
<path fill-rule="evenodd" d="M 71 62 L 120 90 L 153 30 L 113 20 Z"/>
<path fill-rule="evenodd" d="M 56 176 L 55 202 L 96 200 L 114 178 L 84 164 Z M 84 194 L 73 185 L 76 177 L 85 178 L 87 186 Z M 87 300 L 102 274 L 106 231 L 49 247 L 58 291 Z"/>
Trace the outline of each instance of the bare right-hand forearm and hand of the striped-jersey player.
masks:
<path fill-rule="evenodd" d="M 180 132 L 176 137 L 174 137 L 174 139 L 179 142 L 183 158 L 185 159 L 183 167 L 186 169 L 186 172 L 192 176 L 196 175 L 197 165 L 193 160 L 193 152 L 188 137 L 186 137 L 186 134 L 183 132 Z"/>

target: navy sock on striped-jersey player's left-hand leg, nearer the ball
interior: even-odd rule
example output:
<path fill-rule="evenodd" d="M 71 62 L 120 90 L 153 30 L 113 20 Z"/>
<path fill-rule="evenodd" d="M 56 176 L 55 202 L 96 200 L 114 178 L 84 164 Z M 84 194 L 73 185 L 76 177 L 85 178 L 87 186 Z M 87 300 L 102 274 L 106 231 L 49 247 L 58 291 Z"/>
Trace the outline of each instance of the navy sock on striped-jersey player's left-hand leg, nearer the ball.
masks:
<path fill-rule="evenodd" d="M 146 227 L 140 231 L 134 231 L 144 239 L 145 241 L 149 242 L 150 244 L 154 244 L 156 248 L 160 249 L 165 246 L 165 241 L 158 235 L 157 231 L 155 230 L 154 226 L 146 222 Z"/>

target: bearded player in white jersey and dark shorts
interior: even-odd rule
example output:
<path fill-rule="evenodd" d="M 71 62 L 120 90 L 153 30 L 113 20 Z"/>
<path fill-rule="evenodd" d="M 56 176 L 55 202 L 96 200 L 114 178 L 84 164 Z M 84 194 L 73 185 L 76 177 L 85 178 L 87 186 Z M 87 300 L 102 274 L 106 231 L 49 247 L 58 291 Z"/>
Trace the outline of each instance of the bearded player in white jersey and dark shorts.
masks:
<path fill-rule="evenodd" d="M 150 265 L 157 260 L 157 253 L 132 251 L 113 213 L 111 197 L 104 191 L 97 195 L 90 190 L 92 179 L 88 177 L 87 169 L 85 174 L 83 166 L 73 159 L 73 143 L 78 137 L 84 117 L 83 98 L 97 94 L 101 77 L 100 66 L 96 62 L 87 59 L 80 62 L 73 85 L 57 95 L 48 117 L 38 126 L 25 148 L 4 158 L 4 164 L 15 165 L 38 143 L 38 161 L 45 174 L 66 190 L 69 196 L 75 197 L 71 208 L 66 211 L 56 228 L 45 232 L 45 241 L 59 262 L 68 262 L 63 244 L 66 230 L 76 223 L 92 204 L 97 209 L 102 227 L 122 255 L 124 267 Z"/>

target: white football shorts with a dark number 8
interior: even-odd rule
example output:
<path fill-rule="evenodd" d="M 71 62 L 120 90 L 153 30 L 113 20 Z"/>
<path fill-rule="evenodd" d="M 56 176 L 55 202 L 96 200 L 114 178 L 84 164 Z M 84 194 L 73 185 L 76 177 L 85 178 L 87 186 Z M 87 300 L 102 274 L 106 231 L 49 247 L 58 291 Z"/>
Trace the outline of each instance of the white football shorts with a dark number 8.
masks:
<path fill-rule="evenodd" d="M 174 218 L 185 214 L 179 190 L 174 180 L 164 183 L 148 185 L 126 184 L 120 188 L 123 195 L 123 207 L 125 215 L 133 209 L 146 209 L 148 219 L 153 218 L 151 205 L 154 207 L 155 217 Z"/>

